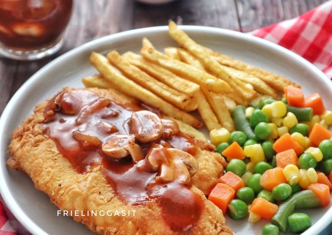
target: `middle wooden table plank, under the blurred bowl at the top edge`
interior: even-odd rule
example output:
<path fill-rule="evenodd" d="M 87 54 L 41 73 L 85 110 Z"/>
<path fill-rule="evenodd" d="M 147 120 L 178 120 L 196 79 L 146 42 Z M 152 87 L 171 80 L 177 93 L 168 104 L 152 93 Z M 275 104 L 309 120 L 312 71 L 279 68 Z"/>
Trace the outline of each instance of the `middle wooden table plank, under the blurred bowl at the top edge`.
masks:
<path fill-rule="evenodd" d="M 134 5 L 134 27 L 179 24 L 206 25 L 239 29 L 233 0 L 177 0 L 163 5 Z"/>

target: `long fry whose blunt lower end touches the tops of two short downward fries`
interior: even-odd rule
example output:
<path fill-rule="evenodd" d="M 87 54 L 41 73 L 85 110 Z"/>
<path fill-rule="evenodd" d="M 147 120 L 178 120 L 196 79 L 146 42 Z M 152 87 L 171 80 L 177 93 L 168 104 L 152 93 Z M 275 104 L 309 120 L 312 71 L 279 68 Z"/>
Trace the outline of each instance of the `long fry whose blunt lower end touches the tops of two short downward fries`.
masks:
<path fill-rule="evenodd" d="M 186 93 L 190 97 L 199 91 L 200 87 L 198 84 L 188 81 L 184 78 L 180 78 L 169 70 L 144 59 L 140 55 L 137 55 L 133 52 L 126 52 L 122 55 L 122 57 L 128 60 L 131 64 L 139 67 L 151 77 L 164 82 L 166 85 L 172 87 L 175 90 Z"/>

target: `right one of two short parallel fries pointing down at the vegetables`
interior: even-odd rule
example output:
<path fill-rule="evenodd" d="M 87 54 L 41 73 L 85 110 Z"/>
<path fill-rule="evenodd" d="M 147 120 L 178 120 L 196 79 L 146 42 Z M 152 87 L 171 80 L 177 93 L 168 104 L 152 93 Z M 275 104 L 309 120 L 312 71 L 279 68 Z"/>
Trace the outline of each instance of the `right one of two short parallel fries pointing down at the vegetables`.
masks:
<path fill-rule="evenodd" d="M 211 105 L 221 125 L 225 127 L 229 132 L 235 131 L 233 119 L 230 116 L 223 96 L 214 92 L 210 92 L 204 88 L 202 89 L 202 92 L 207 98 L 208 103 Z"/>

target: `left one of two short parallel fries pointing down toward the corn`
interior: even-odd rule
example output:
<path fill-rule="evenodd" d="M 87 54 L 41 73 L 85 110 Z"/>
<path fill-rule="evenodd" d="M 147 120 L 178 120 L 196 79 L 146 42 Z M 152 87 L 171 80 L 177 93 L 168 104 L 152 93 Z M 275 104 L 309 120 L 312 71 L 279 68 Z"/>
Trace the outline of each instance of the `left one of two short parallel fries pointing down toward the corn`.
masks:
<path fill-rule="evenodd" d="M 213 129 L 220 129 L 222 126 L 218 122 L 218 118 L 213 113 L 213 110 L 207 99 L 201 91 L 195 94 L 195 98 L 198 100 L 198 112 L 205 123 L 207 130 L 211 131 Z"/>

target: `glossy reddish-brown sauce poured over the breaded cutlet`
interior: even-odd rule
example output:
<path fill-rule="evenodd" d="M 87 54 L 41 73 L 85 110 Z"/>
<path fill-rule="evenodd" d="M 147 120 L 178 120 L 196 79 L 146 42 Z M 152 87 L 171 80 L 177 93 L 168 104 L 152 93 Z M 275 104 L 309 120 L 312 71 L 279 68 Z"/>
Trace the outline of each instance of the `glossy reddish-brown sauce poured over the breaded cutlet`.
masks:
<path fill-rule="evenodd" d="M 49 101 L 44 111 L 44 126 L 46 134 L 55 141 L 62 156 L 79 173 L 84 174 L 101 165 L 104 176 L 119 198 L 133 206 L 155 201 L 172 230 L 187 231 L 201 216 L 204 207 L 201 196 L 178 181 L 156 181 L 158 173 L 152 171 L 145 159 L 136 164 L 130 156 L 113 159 L 105 155 L 98 144 L 105 143 L 117 134 L 132 134 L 130 117 L 133 112 L 144 108 L 141 105 L 124 107 L 86 90 L 65 90 Z M 144 156 L 156 144 L 195 154 L 195 140 L 180 132 L 178 127 L 172 129 L 170 120 L 162 120 L 162 137 L 149 143 L 135 141 L 141 146 Z M 105 128 L 104 123 L 112 128 Z M 78 141 L 73 133 L 86 135 L 92 138 L 92 143 L 97 144 Z"/>

